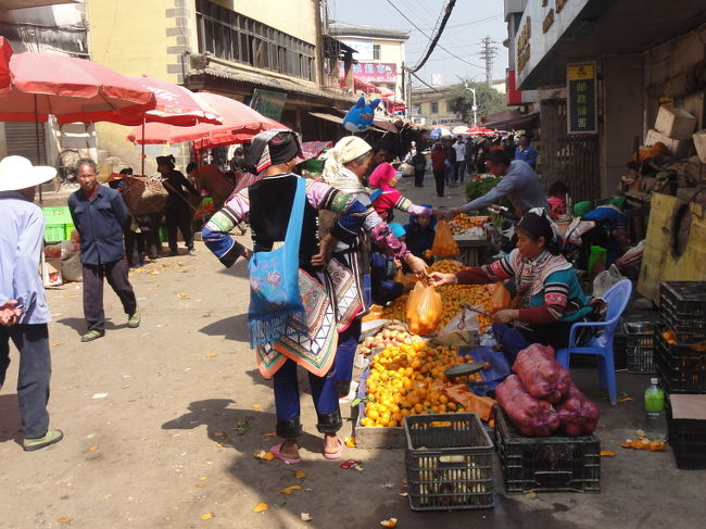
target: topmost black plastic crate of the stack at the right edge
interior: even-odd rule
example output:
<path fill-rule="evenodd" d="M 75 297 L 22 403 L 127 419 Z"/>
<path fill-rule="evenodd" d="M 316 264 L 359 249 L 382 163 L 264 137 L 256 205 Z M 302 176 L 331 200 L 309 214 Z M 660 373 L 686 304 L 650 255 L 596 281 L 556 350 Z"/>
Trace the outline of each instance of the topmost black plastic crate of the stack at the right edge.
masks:
<path fill-rule="evenodd" d="M 706 281 L 660 282 L 659 313 L 678 342 L 706 340 Z"/>

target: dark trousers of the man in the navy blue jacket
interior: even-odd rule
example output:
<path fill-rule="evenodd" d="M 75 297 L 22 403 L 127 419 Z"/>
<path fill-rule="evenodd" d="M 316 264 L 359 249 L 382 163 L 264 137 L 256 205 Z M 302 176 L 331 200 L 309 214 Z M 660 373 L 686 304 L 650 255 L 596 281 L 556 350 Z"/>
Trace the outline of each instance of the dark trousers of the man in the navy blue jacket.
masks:
<path fill-rule="evenodd" d="M 103 279 L 113 288 L 128 316 L 137 311 L 135 290 L 127 278 L 127 261 L 121 259 L 100 265 L 84 264 L 84 316 L 88 330 L 104 330 Z"/>

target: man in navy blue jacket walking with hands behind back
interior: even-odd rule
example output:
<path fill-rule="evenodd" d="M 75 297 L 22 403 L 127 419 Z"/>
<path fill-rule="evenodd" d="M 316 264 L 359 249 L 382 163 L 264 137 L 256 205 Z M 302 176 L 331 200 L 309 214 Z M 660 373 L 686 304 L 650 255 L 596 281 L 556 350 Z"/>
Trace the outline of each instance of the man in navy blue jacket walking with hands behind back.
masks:
<path fill-rule="evenodd" d="M 135 290 L 127 278 L 123 228 L 129 216 L 119 192 L 97 181 L 98 165 L 91 159 L 78 161 L 80 189 L 68 197 L 68 210 L 80 236 L 80 262 L 84 275 L 84 316 L 88 324 L 80 341 L 89 342 L 105 335 L 103 278 L 113 288 L 128 316 L 127 326 L 140 326 Z"/>

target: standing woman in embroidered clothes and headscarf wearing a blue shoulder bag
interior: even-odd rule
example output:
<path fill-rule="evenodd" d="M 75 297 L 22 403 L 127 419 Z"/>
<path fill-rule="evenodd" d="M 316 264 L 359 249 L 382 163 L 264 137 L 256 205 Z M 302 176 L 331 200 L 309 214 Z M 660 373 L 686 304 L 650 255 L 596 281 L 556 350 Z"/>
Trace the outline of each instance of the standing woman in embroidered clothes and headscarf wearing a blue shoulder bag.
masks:
<path fill-rule="evenodd" d="M 337 241 L 353 242 L 365 219 L 365 206 L 352 196 L 292 173 L 300 153 L 299 138 L 290 130 L 266 130 L 255 136 L 245 156 L 249 171 L 257 175 L 248 180 L 248 199 L 237 189 L 202 232 L 206 247 L 226 266 L 231 266 L 241 255 L 251 256 L 251 251 L 229 235 L 240 221 L 250 224 L 253 251 L 259 260 L 267 259 L 266 253 L 259 252 L 280 248 L 288 232 L 293 235 L 290 241 L 299 237 L 299 260 L 293 266 L 298 267 L 299 275 L 297 301 L 301 300 L 304 312 L 282 312 L 277 300 L 261 301 L 263 289 L 268 288 L 265 282 L 273 288 L 283 284 L 288 277 L 286 272 L 291 269 L 287 263 L 285 274 L 274 269 L 264 281 L 256 275 L 260 273 L 257 265 L 251 265 L 248 312 L 250 340 L 256 349 L 260 371 L 265 378 L 274 379 L 277 433 L 283 439 L 270 452 L 289 464 L 301 462 L 297 442 L 302 434 L 298 365 L 308 371 L 317 429 L 324 434 L 324 456 L 338 458 L 343 449 L 337 437 L 343 423 L 333 368 L 337 329 L 332 294 L 326 282 L 318 279 L 318 272 L 324 264 L 323 256 L 328 253 L 327 247 Z M 297 198 L 300 201 L 295 201 Z M 316 230 L 319 210 L 340 215 L 320 249 Z"/>

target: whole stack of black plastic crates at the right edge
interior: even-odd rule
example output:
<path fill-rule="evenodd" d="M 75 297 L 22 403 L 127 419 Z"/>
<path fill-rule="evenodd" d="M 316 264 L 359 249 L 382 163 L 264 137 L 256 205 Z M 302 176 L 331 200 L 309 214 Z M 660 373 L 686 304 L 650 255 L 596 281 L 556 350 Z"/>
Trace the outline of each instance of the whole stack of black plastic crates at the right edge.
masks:
<path fill-rule="evenodd" d="M 706 281 L 664 281 L 657 375 L 670 395 L 706 393 Z M 706 468 L 706 420 L 675 419 L 667 406 L 669 443 L 679 468 Z"/>

